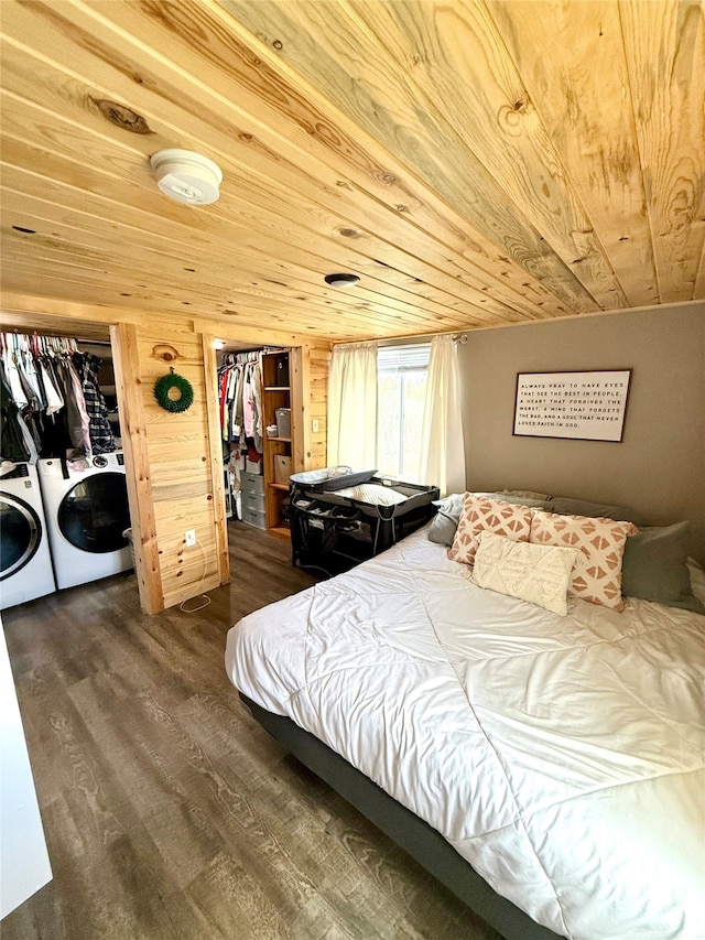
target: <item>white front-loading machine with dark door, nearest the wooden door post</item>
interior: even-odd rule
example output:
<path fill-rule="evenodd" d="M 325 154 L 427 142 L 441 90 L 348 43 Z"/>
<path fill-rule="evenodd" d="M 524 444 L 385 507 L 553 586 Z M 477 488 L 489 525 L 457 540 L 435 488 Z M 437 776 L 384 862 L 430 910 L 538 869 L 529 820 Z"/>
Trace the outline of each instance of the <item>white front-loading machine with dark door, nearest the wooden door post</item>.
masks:
<path fill-rule="evenodd" d="M 57 587 L 86 584 L 132 568 L 121 451 L 78 461 L 39 462 Z"/>

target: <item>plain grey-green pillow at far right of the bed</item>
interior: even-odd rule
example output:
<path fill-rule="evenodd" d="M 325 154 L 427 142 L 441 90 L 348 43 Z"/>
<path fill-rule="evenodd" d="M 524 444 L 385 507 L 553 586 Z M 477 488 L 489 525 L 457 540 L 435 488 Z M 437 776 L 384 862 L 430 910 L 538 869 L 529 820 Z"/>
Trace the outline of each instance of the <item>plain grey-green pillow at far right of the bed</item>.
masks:
<path fill-rule="evenodd" d="M 621 564 L 621 593 L 669 607 L 682 607 L 705 614 L 705 606 L 694 596 L 687 569 L 690 525 L 640 529 L 627 539 Z"/>

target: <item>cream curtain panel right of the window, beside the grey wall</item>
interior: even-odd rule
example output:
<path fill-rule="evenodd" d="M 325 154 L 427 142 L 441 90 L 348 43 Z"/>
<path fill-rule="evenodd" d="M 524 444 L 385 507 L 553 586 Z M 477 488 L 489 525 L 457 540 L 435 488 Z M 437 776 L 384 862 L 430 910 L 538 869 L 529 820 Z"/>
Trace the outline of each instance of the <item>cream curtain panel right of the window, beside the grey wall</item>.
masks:
<path fill-rule="evenodd" d="M 452 336 L 431 341 L 421 440 L 421 482 L 437 486 L 441 496 L 465 493 L 460 376 Z"/>

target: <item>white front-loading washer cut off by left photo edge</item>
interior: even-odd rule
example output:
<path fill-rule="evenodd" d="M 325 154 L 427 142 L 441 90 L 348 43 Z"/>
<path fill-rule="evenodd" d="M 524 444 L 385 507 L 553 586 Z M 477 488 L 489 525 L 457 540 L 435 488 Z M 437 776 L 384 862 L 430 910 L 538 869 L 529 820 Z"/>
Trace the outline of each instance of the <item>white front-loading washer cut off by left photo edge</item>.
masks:
<path fill-rule="evenodd" d="M 0 611 L 56 591 L 36 467 L 0 477 Z"/>

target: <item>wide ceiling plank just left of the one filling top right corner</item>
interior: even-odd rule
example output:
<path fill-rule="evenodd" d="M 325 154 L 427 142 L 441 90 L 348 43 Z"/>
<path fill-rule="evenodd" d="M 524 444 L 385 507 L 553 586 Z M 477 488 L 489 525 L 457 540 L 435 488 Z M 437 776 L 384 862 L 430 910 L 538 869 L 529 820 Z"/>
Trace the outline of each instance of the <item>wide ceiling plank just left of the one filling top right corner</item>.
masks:
<path fill-rule="evenodd" d="M 595 229 L 590 240 L 605 246 L 629 305 L 654 303 L 658 284 L 618 3 L 485 2 L 521 74 L 530 110 L 540 116 L 579 193 Z M 550 56 L 535 55 L 546 36 Z M 518 120 L 524 117 L 522 109 Z"/>

